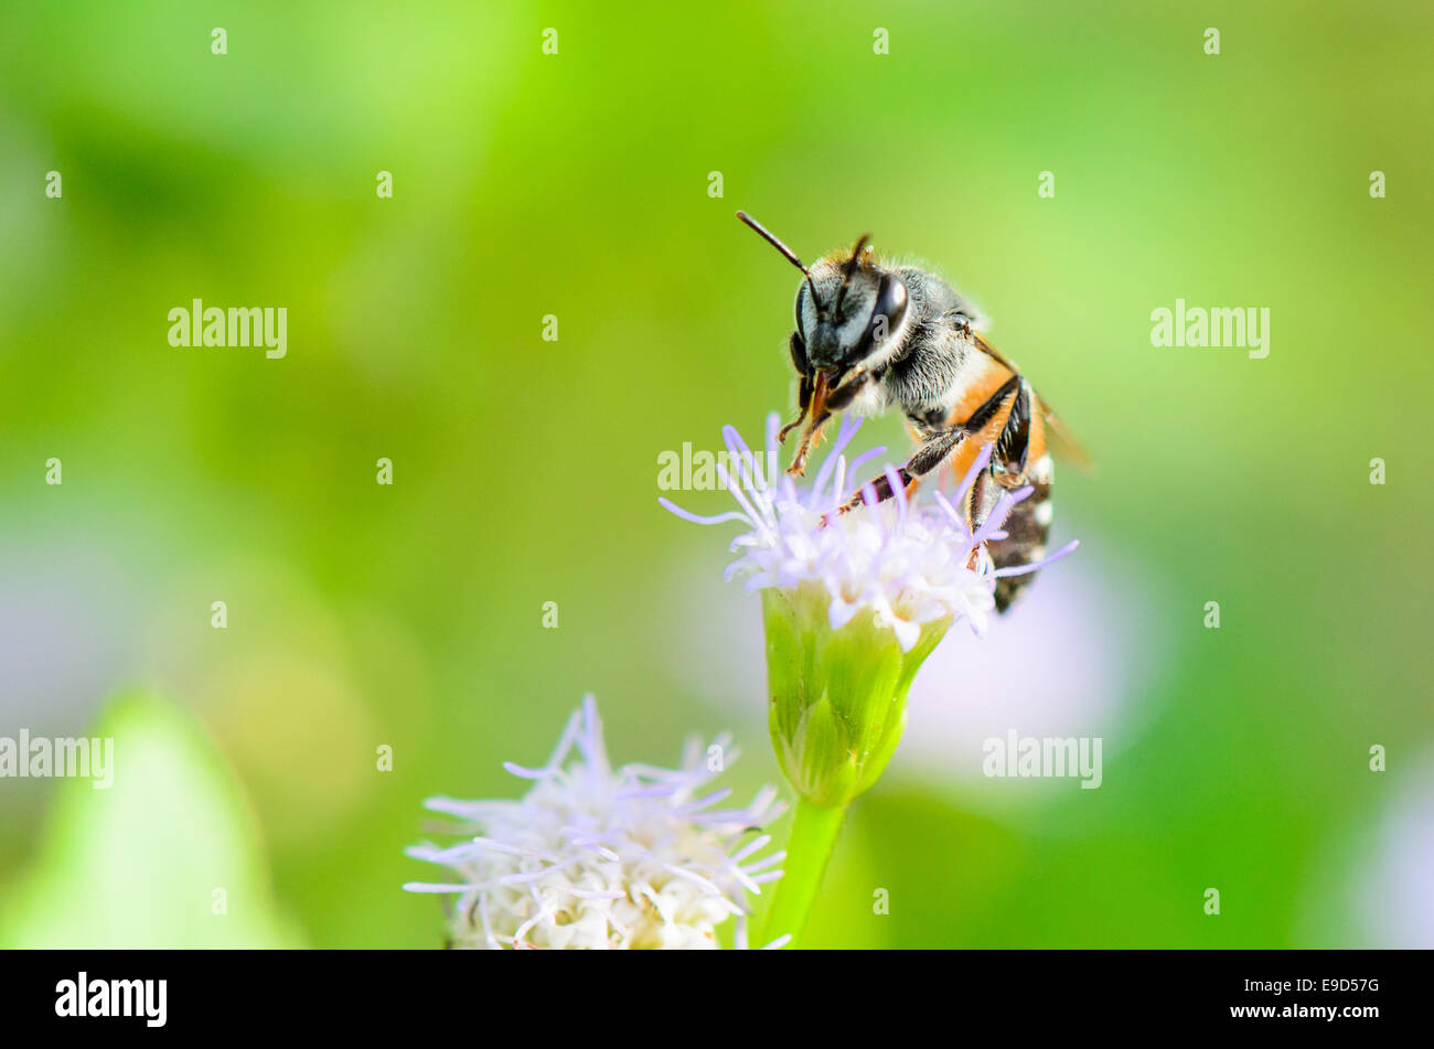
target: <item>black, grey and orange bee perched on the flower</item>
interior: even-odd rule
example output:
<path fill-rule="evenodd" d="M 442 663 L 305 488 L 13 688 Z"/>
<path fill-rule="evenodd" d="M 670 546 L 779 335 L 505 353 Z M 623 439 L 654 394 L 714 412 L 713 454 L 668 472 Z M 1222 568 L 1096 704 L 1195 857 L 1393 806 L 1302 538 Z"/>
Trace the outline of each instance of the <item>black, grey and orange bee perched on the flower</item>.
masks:
<path fill-rule="evenodd" d="M 737 218 L 802 271 L 796 330 L 789 340 L 797 371 L 797 417 L 806 421 L 787 473 L 800 476 L 822 426 L 833 413 L 880 416 L 896 408 L 916 443 L 896 474 L 908 494 L 921 479 L 949 466 L 962 479 L 987 444 L 991 459 L 972 482 L 961 513 L 977 529 L 999 496 L 1030 486 L 1005 519 L 1004 539 L 987 545 L 995 567 L 1034 565 L 1045 556 L 1054 467 L 1048 443 L 1088 470 L 1088 457 L 1065 433 L 1017 365 L 987 341 L 985 317 L 949 284 L 919 267 L 878 261 L 868 236 L 810 268 L 746 212 Z M 870 486 L 891 499 L 886 476 Z M 863 486 L 865 487 L 865 486 Z M 860 506 L 853 496 L 839 507 Z M 1032 573 L 997 579 L 995 606 L 1005 612 Z"/>

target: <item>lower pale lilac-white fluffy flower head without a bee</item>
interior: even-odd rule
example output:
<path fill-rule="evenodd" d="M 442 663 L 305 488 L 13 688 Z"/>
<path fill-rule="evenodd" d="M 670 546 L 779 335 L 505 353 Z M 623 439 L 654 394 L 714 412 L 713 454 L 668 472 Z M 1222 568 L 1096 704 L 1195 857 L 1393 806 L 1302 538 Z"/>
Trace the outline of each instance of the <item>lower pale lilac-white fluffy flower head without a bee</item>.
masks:
<path fill-rule="evenodd" d="M 718 764 L 736 760 L 728 744 L 714 742 Z M 459 897 L 455 947 L 716 947 L 727 919 L 746 947 L 746 894 L 782 877 L 774 867 L 786 856 L 754 858 L 771 841 L 760 828 L 784 805 L 769 787 L 746 808 L 713 810 L 731 791 L 698 795 L 717 775 L 708 754 L 691 739 L 677 770 L 614 771 L 597 704 L 585 696 L 546 765 L 505 764 L 535 781 L 521 801 L 424 803 L 462 817 L 476 837 L 409 848 L 452 867 L 459 881 L 404 888 Z"/>

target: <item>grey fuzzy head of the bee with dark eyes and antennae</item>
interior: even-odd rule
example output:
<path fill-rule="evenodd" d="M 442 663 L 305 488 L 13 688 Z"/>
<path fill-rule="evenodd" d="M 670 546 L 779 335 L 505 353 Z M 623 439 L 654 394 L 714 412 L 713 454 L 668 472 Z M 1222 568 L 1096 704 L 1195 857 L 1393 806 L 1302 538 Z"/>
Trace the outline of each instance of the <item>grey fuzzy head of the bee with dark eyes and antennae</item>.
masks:
<path fill-rule="evenodd" d="M 906 317 L 908 295 L 901 277 L 872 261 L 865 235 L 849 257 L 827 255 L 807 269 L 796 252 L 754 218 L 740 211 L 737 218 L 806 278 L 797 287 L 796 320 L 813 368 L 840 377 L 880 353 Z"/>

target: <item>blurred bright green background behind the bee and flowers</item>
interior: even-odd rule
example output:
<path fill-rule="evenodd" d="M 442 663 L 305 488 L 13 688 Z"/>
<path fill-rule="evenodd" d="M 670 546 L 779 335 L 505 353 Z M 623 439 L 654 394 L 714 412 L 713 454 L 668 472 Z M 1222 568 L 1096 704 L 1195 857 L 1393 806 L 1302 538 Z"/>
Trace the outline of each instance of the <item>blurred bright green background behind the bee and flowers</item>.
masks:
<path fill-rule="evenodd" d="M 1098 463 L 1061 474 L 1084 547 L 997 626 L 1018 643 L 925 684 L 989 709 L 1030 664 L 1061 711 L 1061 661 L 1093 661 L 1061 724 L 1104 735 L 1103 787 L 898 751 L 812 943 L 1434 944 L 1431 30 L 1404 3 L 6 4 L 0 734 L 118 718 L 120 777 L 130 729 L 199 757 L 135 772 L 129 847 L 69 847 L 79 785 L 0 781 L 0 939 L 437 946 L 399 888 L 436 874 L 402 854 L 420 800 L 512 797 L 500 762 L 585 691 L 618 761 L 730 727 L 731 784 L 777 780 L 731 533 L 655 484 L 663 450 L 790 410 L 796 274 L 744 208 L 807 258 L 869 231 L 939 268 Z M 287 307 L 288 355 L 171 348 L 195 297 Z M 1177 297 L 1268 307 L 1269 357 L 1153 348 Z M 106 711 L 133 689 L 192 719 Z M 155 891 L 219 824 L 250 858 Z M 47 871 L 92 921 L 44 920 Z M 272 920 L 212 920 L 215 878 Z"/>

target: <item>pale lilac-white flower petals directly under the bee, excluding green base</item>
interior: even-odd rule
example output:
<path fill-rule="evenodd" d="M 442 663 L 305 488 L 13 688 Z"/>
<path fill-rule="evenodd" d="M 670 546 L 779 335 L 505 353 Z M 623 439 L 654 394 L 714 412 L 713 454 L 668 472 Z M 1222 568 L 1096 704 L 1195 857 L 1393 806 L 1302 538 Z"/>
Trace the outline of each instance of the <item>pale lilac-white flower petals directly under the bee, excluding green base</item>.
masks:
<path fill-rule="evenodd" d="M 1076 546 L 1071 543 L 1035 565 L 1011 569 L 991 565 L 985 543 L 1005 536 L 1001 524 L 1031 489 L 1002 494 L 975 533 L 967 530 L 955 507 L 989 461 L 989 446 L 981 451 L 954 499 L 932 492 L 931 499 L 923 500 L 921 492 L 926 489 L 922 489 L 908 500 L 895 469 L 888 466 L 888 482 L 895 493 L 891 500 L 878 504 L 875 490 L 868 486 L 863 489 L 865 506 L 829 517 L 847 502 L 849 479 L 859 477 L 865 464 L 886 449 L 873 449 L 847 464 L 842 451 L 860 420 L 843 417 L 816 479 L 810 486 L 797 487 L 792 477 L 776 476 L 777 426 L 777 416 L 770 416 L 767 477 L 757 469 L 741 436 L 730 426 L 723 427 L 737 476 L 721 463 L 717 471 L 740 510 L 701 517 L 667 499 L 660 502 L 698 524 L 746 522 L 751 530 L 733 540 L 733 552 L 741 556 L 727 567 L 727 575 L 747 576 L 747 589 L 797 589 L 803 583 L 822 588 L 830 602 L 835 631 L 862 609 L 870 609 L 878 625 L 895 632 L 903 651 L 916 643 L 922 623 L 936 619 L 965 619 L 972 631 L 984 633 L 995 608 L 992 590 L 998 576 L 1034 572 Z"/>

